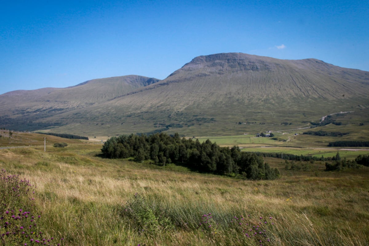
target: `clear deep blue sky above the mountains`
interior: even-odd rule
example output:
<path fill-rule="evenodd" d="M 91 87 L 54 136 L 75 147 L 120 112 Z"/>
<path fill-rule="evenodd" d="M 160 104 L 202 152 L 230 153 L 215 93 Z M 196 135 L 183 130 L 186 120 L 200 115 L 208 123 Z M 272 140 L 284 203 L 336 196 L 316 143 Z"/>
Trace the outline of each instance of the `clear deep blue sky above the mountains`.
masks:
<path fill-rule="evenodd" d="M 4 1 L 0 94 L 165 79 L 199 55 L 316 58 L 369 71 L 369 1 Z"/>

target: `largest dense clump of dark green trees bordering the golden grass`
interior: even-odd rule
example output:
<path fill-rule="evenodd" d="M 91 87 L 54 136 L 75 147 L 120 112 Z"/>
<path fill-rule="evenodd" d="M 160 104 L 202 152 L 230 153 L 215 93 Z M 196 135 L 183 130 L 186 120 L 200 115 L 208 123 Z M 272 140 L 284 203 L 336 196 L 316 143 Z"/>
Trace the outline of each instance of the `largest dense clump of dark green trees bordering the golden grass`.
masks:
<path fill-rule="evenodd" d="M 153 135 L 120 135 L 108 139 L 101 149 L 108 158 L 134 157 L 137 161 L 149 160 L 155 164 L 178 163 L 191 170 L 221 175 L 241 174 L 247 179 L 275 179 L 278 169 L 271 169 L 255 153 L 241 152 L 238 146 L 220 147 L 207 140 L 180 138 L 176 133 Z"/>

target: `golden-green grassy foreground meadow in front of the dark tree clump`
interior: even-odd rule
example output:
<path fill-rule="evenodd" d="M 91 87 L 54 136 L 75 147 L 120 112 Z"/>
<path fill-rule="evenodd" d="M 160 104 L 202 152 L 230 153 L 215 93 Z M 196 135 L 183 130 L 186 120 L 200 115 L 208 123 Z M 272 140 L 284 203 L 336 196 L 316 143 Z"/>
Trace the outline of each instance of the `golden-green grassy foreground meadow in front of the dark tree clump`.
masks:
<path fill-rule="evenodd" d="M 41 215 L 40 244 L 369 245 L 368 167 L 328 172 L 315 161 L 290 169 L 265 158 L 281 177 L 249 181 L 103 159 L 101 144 L 54 140 L 68 146 L 0 149 L 6 175 L 32 185 L 34 194 L 24 195 L 32 203 L 15 202 L 13 210 Z M 19 226 L 18 241 L 3 237 L 0 245 L 37 244 Z"/>

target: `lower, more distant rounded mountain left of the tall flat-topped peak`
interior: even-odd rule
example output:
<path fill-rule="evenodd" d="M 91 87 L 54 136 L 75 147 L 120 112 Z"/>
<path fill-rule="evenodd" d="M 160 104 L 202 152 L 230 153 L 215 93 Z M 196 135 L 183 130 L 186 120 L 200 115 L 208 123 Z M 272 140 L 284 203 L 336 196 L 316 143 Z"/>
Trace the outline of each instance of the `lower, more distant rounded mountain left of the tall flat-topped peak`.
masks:
<path fill-rule="evenodd" d="M 10 91 L 0 95 L 0 123 L 7 126 L 14 124 L 14 121 L 22 124 L 24 121 L 42 121 L 63 112 L 99 104 L 158 81 L 155 78 L 128 75 L 89 80 L 66 88 Z M 59 119 L 54 122 L 66 124 Z"/>

